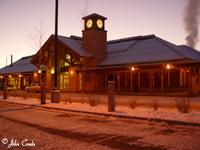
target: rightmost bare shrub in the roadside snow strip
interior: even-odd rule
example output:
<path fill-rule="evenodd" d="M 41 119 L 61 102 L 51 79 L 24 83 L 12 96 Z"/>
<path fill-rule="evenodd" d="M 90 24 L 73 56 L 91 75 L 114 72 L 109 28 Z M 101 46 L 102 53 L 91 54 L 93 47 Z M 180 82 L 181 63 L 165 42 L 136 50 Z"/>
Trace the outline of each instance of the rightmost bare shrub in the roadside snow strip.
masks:
<path fill-rule="evenodd" d="M 178 97 L 175 99 L 176 108 L 181 113 L 190 112 L 190 101 L 188 97 Z"/>

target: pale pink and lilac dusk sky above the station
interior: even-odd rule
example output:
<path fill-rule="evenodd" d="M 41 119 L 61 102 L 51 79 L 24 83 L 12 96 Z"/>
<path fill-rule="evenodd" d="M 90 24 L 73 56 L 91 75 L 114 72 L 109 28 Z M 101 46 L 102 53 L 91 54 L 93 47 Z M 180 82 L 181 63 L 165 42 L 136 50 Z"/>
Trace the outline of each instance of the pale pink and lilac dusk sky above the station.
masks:
<path fill-rule="evenodd" d="M 186 0 L 88 0 L 87 14 L 107 17 L 108 40 L 155 34 L 175 44 L 185 44 L 183 10 Z M 59 0 L 59 35 L 82 36 L 85 0 Z M 0 67 L 32 55 L 28 33 L 44 27 L 46 39 L 54 34 L 55 0 L 0 0 Z M 200 50 L 200 42 L 196 49 Z"/>

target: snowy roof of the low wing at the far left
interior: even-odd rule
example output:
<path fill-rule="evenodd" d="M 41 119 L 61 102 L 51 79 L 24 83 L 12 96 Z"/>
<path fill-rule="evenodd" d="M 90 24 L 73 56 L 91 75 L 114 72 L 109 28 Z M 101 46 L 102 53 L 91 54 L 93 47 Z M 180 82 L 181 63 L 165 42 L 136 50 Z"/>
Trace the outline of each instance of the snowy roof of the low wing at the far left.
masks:
<path fill-rule="evenodd" d="M 31 64 L 32 56 L 22 57 L 21 59 L 17 60 L 13 64 L 1 68 L 0 74 L 12 74 L 12 73 L 28 73 L 34 71 L 34 65 Z"/>

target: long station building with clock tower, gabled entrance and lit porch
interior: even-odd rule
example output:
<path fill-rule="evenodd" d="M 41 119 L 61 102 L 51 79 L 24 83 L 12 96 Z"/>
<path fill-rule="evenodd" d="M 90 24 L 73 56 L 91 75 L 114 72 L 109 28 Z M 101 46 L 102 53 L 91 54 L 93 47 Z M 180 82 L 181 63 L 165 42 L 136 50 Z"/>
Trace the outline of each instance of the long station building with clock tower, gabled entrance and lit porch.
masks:
<path fill-rule="evenodd" d="M 91 14 L 82 19 L 82 37 L 57 38 L 57 82 L 62 92 L 106 92 L 108 81 L 115 81 L 118 92 L 200 92 L 199 51 L 153 34 L 107 41 L 106 17 Z M 31 56 L 34 67 L 27 85 L 43 81 L 47 90 L 53 88 L 54 44 L 51 35 Z M 3 70 L 1 78 L 25 73 Z"/>

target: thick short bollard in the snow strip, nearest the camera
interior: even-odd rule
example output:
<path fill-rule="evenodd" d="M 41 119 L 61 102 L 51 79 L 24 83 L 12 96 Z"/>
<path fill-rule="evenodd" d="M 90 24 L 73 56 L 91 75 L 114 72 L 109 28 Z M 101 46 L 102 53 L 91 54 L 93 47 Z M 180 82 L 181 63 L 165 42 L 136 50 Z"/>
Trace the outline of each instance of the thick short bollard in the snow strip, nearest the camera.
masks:
<path fill-rule="evenodd" d="M 115 111 L 115 81 L 108 81 L 108 111 Z"/>

